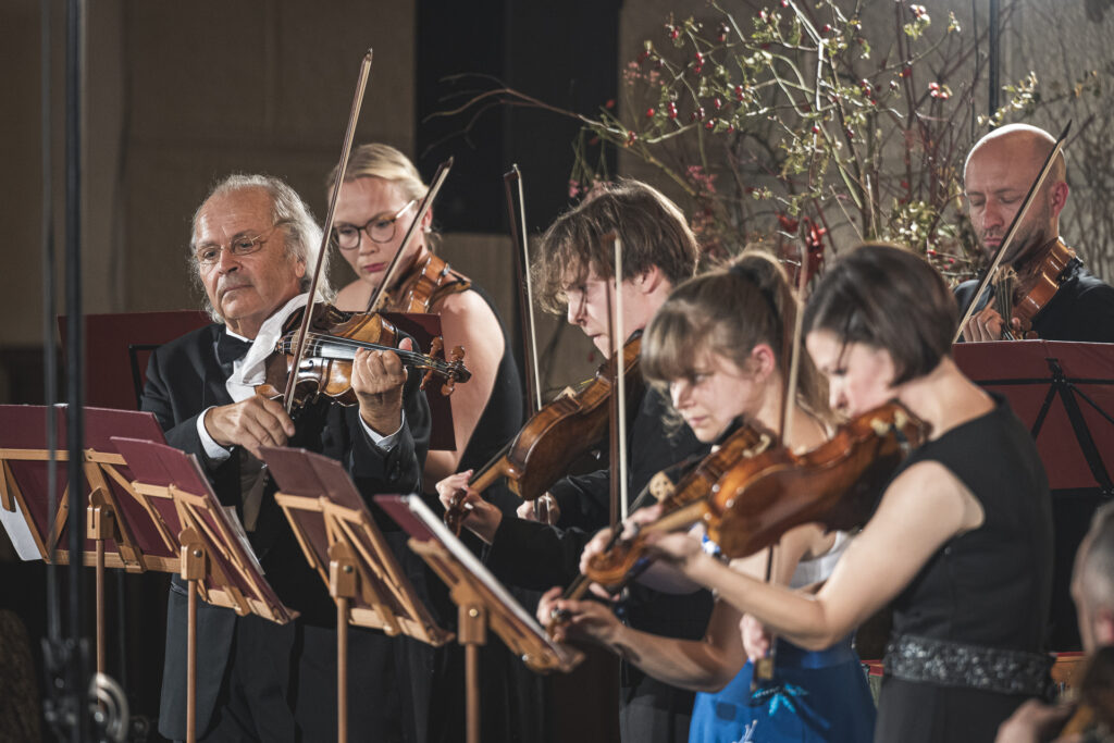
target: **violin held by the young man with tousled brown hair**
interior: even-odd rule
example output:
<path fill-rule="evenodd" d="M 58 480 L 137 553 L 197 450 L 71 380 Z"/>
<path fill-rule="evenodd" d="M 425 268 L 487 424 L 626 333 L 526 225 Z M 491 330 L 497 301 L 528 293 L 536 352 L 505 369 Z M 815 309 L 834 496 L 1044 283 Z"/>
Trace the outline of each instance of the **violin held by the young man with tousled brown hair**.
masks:
<path fill-rule="evenodd" d="M 638 371 L 641 348 L 641 334 L 623 346 L 623 374 L 628 394 L 641 395 L 644 390 Z M 578 391 L 561 394 L 531 416 L 504 451 L 469 478 L 468 486 L 482 492 L 502 477 L 522 500 L 536 500 L 545 495 L 578 457 L 592 450 L 607 433 L 615 363 L 615 358 L 608 359 Z M 463 497 L 463 490 L 456 492 L 444 514 L 446 524 L 457 534 L 467 516 Z"/>

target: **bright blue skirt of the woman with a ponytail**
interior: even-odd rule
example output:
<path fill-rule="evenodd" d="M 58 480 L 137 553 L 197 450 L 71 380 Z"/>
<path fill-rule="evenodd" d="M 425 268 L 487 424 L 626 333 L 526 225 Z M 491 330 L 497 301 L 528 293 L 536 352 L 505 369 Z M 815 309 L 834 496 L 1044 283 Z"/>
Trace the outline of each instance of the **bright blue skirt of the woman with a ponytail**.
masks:
<path fill-rule="evenodd" d="M 688 743 L 870 743 L 874 702 L 851 638 L 827 651 L 778 641 L 774 677 L 751 693 L 750 662 L 715 694 L 697 694 Z"/>

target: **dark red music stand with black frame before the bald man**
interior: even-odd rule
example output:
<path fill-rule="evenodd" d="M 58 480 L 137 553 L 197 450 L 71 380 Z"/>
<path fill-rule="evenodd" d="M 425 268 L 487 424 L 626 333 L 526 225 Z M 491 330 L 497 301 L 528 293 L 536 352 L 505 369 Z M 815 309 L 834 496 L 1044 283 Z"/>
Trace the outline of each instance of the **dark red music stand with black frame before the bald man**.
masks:
<path fill-rule="evenodd" d="M 1028 427 L 1053 495 L 1055 649 L 1079 648 L 1071 599 L 1075 550 L 1094 510 L 1114 498 L 1114 344 L 1065 341 L 958 343 L 959 369 L 1009 400 Z"/>

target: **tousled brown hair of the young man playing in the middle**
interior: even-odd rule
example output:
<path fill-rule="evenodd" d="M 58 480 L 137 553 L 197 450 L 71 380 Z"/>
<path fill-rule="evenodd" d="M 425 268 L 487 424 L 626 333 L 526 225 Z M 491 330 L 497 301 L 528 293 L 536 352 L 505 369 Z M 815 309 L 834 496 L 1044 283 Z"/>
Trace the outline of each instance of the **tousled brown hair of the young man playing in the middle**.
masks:
<path fill-rule="evenodd" d="M 623 241 L 623 275 L 641 275 L 657 266 L 677 285 L 696 273 L 700 247 L 677 205 L 639 180 L 597 186 L 575 208 L 557 217 L 534 260 L 535 292 L 541 305 L 563 312 L 570 275 L 583 280 L 595 271 L 615 275 L 608 234 Z"/>

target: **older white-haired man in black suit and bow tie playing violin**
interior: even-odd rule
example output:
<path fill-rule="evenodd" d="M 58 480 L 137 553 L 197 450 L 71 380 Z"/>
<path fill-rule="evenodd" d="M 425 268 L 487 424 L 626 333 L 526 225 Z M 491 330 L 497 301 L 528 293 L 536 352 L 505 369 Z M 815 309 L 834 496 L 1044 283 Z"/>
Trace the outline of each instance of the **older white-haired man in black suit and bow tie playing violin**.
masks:
<path fill-rule="evenodd" d="M 147 371 L 144 410 L 173 446 L 197 456 L 221 501 L 243 520 L 267 580 L 301 613 L 283 626 L 199 606 L 201 741 L 336 737 L 335 608 L 263 487 L 260 448 L 289 443 L 334 457 L 365 497 L 416 490 L 421 476 L 429 412 L 419 375 L 408 379 L 393 352 L 356 352 L 356 407 L 309 405 L 292 420 L 281 403 L 254 393 L 283 321 L 306 302 L 320 241 L 285 183 L 240 175 L 221 182 L 194 215 L 190 239 L 194 278 L 217 322 L 158 349 Z M 407 569 L 417 563 L 400 535 L 388 539 Z M 186 609 L 185 584 L 175 578 L 159 732 L 177 740 L 186 734 Z M 426 715 L 413 710 L 410 641 L 353 628 L 350 642 L 360 658 L 350 669 L 359 698 L 349 707 L 353 740 L 414 740 Z"/>

